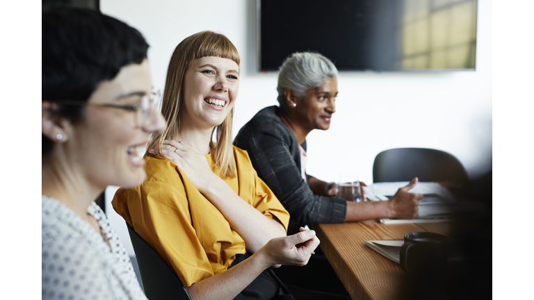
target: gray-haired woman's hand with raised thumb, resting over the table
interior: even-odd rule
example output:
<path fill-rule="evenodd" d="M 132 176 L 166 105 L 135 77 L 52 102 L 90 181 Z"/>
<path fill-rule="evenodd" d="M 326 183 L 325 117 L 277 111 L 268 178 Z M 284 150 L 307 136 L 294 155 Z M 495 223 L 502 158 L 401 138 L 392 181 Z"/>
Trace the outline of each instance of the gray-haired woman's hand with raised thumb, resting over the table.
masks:
<path fill-rule="evenodd" d="M 423 199 L 423 195 L 408 192 L 415 188 L 417 181 L 417 177 L 412 179 L 408 185 L 398 189 L 394 197 L 388 200 L 391 217 L 414 219 L 419 215 L 419 200 Z"/>

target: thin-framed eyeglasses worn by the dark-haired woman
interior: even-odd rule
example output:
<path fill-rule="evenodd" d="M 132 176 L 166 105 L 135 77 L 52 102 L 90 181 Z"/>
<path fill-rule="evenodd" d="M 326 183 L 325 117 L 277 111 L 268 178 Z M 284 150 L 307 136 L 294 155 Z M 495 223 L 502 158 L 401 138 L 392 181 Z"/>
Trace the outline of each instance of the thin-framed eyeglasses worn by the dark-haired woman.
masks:
<path fill-rule="evenodd" d="M 128 110 L 133 112 L 133 122 L 136 127 L 142 127 L 146 125 L 148 116 L 152 112 L 152 106 L 156 106 L 161 99 L 161 92 L 152 92 L 150 95 L 141 97 L 141 102 L 130 105 L 117 105 L 111 103 L 88 103 L 87 101 L 79 100 L 55 100 L 55 103 L 61 105 L 73 105 L 73 106 L 99 106 L 104 108 L 119 108 L 122 110 Z"/>

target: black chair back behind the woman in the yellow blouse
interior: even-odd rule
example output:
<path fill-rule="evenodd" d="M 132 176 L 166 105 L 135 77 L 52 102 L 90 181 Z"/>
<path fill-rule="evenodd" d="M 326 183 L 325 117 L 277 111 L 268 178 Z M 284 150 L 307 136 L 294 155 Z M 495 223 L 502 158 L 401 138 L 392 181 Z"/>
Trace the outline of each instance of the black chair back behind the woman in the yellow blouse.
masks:
<path fill-rule="evenodd" d="M 128 226 L 133 251 L 136 252 L 139 272 L 147 298 L 150 300 L 191 300 L 180 278 L 159 256 L 159 253 L 143 240 L 129 224 L 126 226 Z"/>

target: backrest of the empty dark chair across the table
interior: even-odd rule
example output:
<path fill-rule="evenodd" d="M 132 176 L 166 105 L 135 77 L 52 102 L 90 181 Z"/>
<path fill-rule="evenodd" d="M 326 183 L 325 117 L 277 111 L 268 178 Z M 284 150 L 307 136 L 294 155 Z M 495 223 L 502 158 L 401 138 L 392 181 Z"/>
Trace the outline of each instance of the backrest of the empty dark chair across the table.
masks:
<path fill-rule="evenodd" d="M 398 148 L 378 153 L 373 164 L 373 182 L 467 181 L 462 163 L 449 153 L 435 149 Z"/>

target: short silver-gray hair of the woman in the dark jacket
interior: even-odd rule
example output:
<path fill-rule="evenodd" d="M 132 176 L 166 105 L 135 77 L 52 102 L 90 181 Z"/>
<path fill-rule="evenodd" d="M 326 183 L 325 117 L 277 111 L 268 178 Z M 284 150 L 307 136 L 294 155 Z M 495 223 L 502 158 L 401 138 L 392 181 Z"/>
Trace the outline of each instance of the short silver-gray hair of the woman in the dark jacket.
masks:
<path fill-rule="evenodd" d="M 312 52 L 291 54 L 284 60 L 278 75 L 277 100 L 280 107 L 286 103 L 286 89 L 290 88 L 301 99 L 307 90 L 318 88 L 327 78 L 337 78 L 337 68 L 330 59 Z"/>

